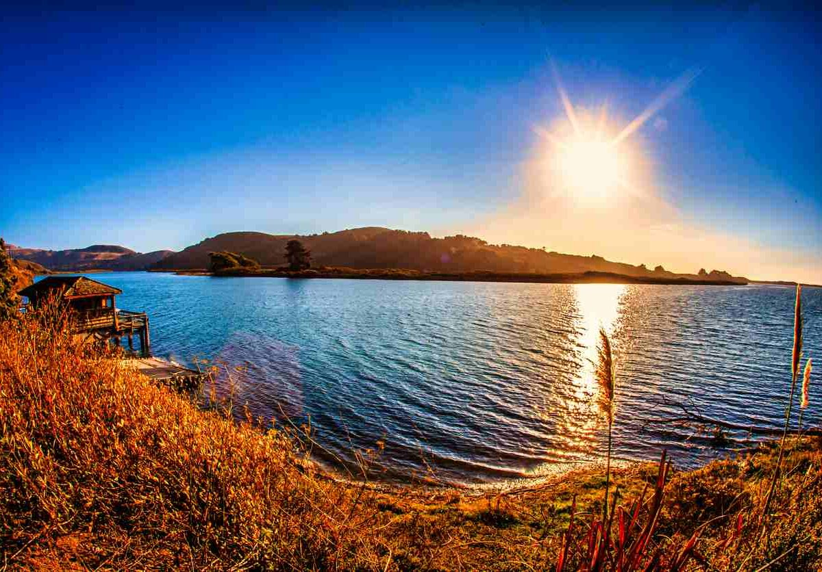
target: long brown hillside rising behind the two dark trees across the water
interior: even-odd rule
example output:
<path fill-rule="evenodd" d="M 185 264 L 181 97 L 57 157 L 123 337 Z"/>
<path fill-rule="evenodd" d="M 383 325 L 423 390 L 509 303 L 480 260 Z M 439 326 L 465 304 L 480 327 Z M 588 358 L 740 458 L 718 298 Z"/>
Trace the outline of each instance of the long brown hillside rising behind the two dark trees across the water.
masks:
<path fill-rule="evenodd" d="M 546 252 L 514 245 L 489 245 L 471 236 L 432 238 L 427 232 L 395 231 L 381 227 L 355 228 L 321 235 L 269 235 L 263 232 L 228 232 L 156 263 L 155 269 L 192 270 L 207 268 L 208 253 L 229 251 L 255 259 L 263 266 L 284 264 L 285 244 L 297 239 L 312 251 L 314 266 L 347 268 L 408 268 L 430 272 L 612 272 L 632 277 L 689 278 L 700 281 L 738 281 L 727 272 L 701 271 L 677 274 L 661 266 L 650 270 L 611 262 L 600 256 L 578 256 Z"/>

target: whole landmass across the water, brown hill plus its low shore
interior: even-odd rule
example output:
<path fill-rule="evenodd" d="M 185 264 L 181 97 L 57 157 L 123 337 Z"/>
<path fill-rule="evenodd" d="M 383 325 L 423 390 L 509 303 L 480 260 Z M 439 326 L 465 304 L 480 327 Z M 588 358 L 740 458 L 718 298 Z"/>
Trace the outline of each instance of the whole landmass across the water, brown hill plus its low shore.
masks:
<path fill-rule="evenodd" d="M 310 268 L 284 267 L 289 241 L 310 253 Z M 598 255 L 492 245 L 473 236 L 434 238 L 427 232 L 382 227 L 354 228 L 308 236 L 229 232 L 202 240 L 153 264 L 151 270 L 209 273 L 210 254 L 225 252 L 252 261 L 224 264 L 224 276 L 378 278 L 504 282 L 618 282 L 629 284 L 746 284 L 744 277 L 700 269 L 670 272 L 658 265 L 612 262 Z"/>

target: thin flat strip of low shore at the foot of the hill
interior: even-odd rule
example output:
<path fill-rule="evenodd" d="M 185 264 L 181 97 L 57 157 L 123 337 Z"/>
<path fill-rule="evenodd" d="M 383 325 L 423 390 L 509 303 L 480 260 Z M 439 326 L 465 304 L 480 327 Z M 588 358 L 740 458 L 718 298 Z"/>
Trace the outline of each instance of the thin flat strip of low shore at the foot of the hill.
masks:
<path fill-rule="evenodd" d="M 291 272 L 280 269 L 245 270 L 232 269 L 210 272 L 205 269 L 151 269 L 147 272 L 169 272 L 178 276 L 211 277 L 265 277 L 265 278 L 326 278 L 349 280 L 412 280 L 412 281 L 463 281 L 463 282 L 511 282 L 536 284 L 649 284 L 663 286 L 747 286 L 748 281 L 694 280 L 686 277 L 634 277 L 615 272 L 567 272 L 539 274 L 527 272 L 421 272 L 418 270 L 322 268 Z"/>

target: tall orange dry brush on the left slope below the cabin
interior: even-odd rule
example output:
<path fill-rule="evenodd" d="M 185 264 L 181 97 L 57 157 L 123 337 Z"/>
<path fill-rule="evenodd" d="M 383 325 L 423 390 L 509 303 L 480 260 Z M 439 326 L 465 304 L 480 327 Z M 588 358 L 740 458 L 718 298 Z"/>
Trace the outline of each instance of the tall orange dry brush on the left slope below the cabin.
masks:
<path fill-rule="evenodd" d="M 283 433 L 201 412 L 31 317 L 0 340 L 7 561 L 377 567 L 369 515 Z"/>

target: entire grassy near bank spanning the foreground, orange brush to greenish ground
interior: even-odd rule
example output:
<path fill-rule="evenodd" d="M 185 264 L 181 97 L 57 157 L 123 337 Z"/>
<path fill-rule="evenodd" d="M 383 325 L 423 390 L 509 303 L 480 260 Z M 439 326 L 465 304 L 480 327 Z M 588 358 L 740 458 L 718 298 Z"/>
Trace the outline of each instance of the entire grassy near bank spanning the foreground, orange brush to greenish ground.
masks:
<path fill-rule="evenodd" d="M 603 514 L 602 469 L 509 493 L 340 482 L 293 435 L 200 410 L 105 351 L 76 345 L 62 318 L 44 318 L 0 323 L 0 566 L 546 570 L 575 505 L 582 525 L 568 537 L 565 570 L 584 567 L 583 523 Z M 768 445 L 672 471 L 656 508 L 657 495 L 641 492 L 653 490 L 658 467 L 618 468 L 614 514 L 639 507 L 638 530 L 653 517 L 643 561 L 655 558 L 660 570 L 698 529 L 690 569 L 757 570 L 775 559 L 769 570 L 818 570 L 818 442 L 787 443 L 755 535 L 777 460 Z"/>

